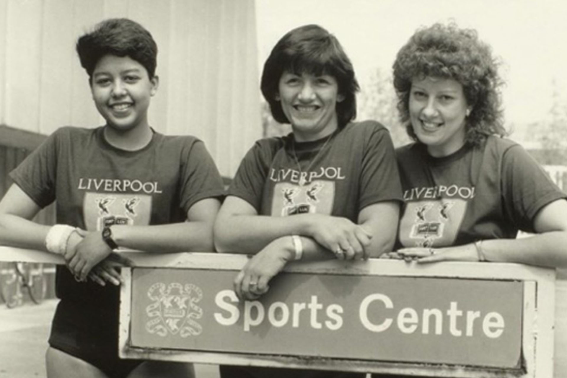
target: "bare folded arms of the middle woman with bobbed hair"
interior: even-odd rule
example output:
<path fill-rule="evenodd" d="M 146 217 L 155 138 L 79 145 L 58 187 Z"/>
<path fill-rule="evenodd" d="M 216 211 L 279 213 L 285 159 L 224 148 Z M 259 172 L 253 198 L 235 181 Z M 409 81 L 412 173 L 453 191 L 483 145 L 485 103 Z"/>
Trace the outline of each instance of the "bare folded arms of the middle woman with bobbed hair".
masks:
<path fill-rule="evenodd" d="M 229 197 L 215 223 L 215 243 L 220 252 L 255 253 L 234 282 L 239 298 L 255 299 L 268 291 L 270 279 L 287 262 L 295 260 L 297 247 L 291 235 L 301 235 L 302 261 L 378 257 L 393 246 L 398 216 L 397 202 L 365 207 L 359 224 L 321 214 L 259 216 L 246 201 Z"/>

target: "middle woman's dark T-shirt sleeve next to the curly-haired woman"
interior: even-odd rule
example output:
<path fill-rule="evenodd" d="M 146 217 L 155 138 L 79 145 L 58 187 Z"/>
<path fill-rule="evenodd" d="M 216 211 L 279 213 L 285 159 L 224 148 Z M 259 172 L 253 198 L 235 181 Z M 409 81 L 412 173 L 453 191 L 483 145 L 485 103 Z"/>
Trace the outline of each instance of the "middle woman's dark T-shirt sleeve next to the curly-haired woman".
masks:
<path fill-rule="evenodd" d="M 365 141 L 362 156 L 360 208 L 382 201 L 403 202 L 392 139 L 387 129 L 375 128 Z"/>

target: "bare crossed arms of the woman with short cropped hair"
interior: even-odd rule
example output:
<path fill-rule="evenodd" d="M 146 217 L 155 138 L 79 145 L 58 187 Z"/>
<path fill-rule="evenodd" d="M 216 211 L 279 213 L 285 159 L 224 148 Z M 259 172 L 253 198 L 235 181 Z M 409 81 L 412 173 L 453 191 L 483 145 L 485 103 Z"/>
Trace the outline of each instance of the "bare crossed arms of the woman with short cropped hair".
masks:
<path fill-rule="evenodd" d="M 112 226 L 113 239 L 119 247 L 150 252 L 213 250 L 213 222 L 219 201 L 206 198 L 187 212 L 187 222 L 159 226 Z M 39 206 L 18 185 L 12 185 L 0 201 L 0 243 L 11 247 L 47 251 L 45 238 L 50 226 L 32 222 Z M 101 231 L 81 232 L 69 239 L 65 260 L 78 278 L 86 279 L 92 267 L 112 250 L 103 241 Z"/>

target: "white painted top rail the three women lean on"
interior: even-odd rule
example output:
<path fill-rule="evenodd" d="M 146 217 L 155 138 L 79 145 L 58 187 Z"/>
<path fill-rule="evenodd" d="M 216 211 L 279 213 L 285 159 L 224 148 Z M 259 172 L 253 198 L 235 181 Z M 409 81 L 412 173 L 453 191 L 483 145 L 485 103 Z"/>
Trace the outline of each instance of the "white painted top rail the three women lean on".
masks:
<path fill-rule="evenodd" d="M 118 251 L 137 267 L 173 267 L 179 269 L 240 270 L 248 261 L 245 254 L 214 252 L 148 253 Z M 0 261 L 27 261 L 65 264 L 61 256 L 30 249 L 0 247 Z M 481 269 L 479 269 L 481 268 Z M 412 277 L 483 278 L 538 280 L 555 285 L 555 270 L 500 262 L 443 262 L 443 264 L 406 263 L 399 260 L 371 258 L 366 261 L 290 262 L 284 271 L 346 275 L 396 275 Z M 544 300 L 540 298 L 539 300 Z"/>

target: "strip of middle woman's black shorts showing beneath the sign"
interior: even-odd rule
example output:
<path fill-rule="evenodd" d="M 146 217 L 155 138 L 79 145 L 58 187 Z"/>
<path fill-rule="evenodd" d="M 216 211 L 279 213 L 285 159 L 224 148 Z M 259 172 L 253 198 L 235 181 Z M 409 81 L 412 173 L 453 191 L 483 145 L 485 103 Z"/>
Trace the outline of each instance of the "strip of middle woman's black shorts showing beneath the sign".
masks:
<path fill-rule="evenodd" d="M 221 378 L 364 378 L 365 373 L 344 371 L 266 368 L 253 366 L 219 366 Z"/>

